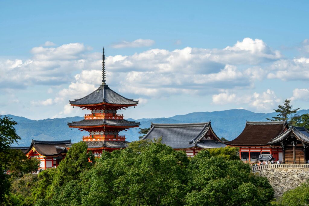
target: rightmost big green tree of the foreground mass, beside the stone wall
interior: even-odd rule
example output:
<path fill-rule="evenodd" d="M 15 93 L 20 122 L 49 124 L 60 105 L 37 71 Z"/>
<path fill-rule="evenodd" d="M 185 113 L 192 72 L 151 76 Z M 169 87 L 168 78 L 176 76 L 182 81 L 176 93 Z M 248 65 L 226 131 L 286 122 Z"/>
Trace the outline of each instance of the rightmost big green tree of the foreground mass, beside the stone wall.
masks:
<path fill-rule="evenodd" d="M 202 150 L 189 166 L 189 192 L 186 205 L 267 205 L 273 198 L 268 180 L 251 173 L 239 160 L 211 157 Z"/>

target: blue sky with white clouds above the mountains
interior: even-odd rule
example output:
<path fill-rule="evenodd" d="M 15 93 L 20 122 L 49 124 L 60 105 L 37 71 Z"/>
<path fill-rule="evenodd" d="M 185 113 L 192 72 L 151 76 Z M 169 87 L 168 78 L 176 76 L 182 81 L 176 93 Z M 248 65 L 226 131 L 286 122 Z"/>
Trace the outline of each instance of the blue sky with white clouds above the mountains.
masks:
<path fill-rule="evenodd" d="M 106 83 L 126 118 L 283 100 L 309 109 L 308 1 L 1 1 L 0 114 L 83 116 L 69 100 Z"/>

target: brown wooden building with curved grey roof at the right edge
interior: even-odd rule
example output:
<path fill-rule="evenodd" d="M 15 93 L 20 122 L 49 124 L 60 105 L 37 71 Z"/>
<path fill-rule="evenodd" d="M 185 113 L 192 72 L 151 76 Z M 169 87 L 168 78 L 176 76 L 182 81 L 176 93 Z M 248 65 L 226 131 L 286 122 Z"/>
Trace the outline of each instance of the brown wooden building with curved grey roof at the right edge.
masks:
<path fill-rule="evenodd" d="M 307 163 L 309 153 L 309 131 L 304 127 L 291 126 L 281 135 L 268 143 L 282 147 L 282 162 L 284 163 Z"/>

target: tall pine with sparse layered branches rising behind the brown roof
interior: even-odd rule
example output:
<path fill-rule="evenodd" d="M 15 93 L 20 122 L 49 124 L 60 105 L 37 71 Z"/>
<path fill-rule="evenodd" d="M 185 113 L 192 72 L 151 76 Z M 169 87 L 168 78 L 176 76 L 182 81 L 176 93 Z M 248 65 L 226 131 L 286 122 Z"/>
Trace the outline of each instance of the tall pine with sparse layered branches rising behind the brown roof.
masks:
<path fill-rule="evenodd" d="M 278 114 L 277 116 L 272 117 L 273 119 L 266 118 L 271 121 L 285 121 L 291 120 L 292 114 L 295 114 L 300 108 L 293 109 L 293 106 L 290 105 L 291 100 L 284 100 L 283 105 L 278 105 L 278 109 L 274 109 Z"/>

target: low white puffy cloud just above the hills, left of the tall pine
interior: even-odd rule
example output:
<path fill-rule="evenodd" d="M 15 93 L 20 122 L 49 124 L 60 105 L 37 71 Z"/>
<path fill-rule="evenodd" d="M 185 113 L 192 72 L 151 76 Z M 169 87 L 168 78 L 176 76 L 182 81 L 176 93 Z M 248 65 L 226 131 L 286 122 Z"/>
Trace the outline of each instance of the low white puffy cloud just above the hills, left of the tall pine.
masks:
<path fill-rule="evenodd" d="M 254 92 L 251 95 L 236 95 L 228 91 L 213 95 L 212 101 L 214 104 L 247 104 L 248 109 L 255 111 L 269 111 L 280 102 L 273 90 L 266 90 L 262 93 Z"/>

